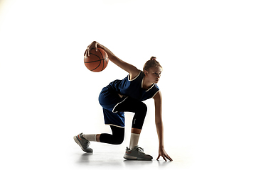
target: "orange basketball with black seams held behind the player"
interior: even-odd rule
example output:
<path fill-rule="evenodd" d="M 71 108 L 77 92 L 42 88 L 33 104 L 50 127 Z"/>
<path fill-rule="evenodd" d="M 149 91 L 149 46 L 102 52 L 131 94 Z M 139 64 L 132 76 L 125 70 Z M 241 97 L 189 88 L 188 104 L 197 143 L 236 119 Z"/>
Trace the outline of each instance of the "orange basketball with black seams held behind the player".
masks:
<path fill-rule="evenodd" d="M 109 61 L 107 52 L 102 48 L 97 48 L 97 52 L 95 48 L 90 50 L 90 56 L 84 57 L 85 66 L 92 72 L 101 72 L 103 69 L 107 67 L 107 63 Z"/>

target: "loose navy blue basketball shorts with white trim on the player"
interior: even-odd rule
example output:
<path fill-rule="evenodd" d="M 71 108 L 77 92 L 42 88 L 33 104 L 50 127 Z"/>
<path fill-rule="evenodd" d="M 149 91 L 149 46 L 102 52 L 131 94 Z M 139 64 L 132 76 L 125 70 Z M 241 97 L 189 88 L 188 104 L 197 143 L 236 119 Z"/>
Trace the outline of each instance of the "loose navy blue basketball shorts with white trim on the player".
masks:
<path fill-rule="evenodd" d="M 99 102 L 103 108 L 106 125 L 114 125 L 124 128 L 124 112 L 114 111 L 114 108 L 127 97 L 121 97 L 116 91 L 104 87 L 100 92 Z"/>

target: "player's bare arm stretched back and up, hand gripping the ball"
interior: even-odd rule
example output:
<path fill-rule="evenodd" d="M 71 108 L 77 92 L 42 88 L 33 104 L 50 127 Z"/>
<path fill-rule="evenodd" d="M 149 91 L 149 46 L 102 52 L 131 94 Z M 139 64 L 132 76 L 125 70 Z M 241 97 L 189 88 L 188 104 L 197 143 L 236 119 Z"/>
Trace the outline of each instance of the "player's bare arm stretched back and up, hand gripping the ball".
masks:
<path fill-rule="evenodd" d="M 90 50 L 92 48 L 95 48 L 95 50 L 97 51 L 97 47 L 102 48 L 103 50 L 105 50 L 105 52 L 107 52 L 107 55 L 110 59 L 110 61 L 112 61 L 114 64 L 116 64 L 118 67 L 124 69 L 125 71 L 129 72 L 130 75 L 130 79 L 133 79 L 134 77 L 136 77 L 139 74 L 139 69 L 137 69 L 136 67 L 134 67 L 132 64 L 129 64 L 127 62 L 124 62 L 122 60 L 120 60 L 117 56 L 115 56 L 113 54 L 113 52 L 111 52 L 109 49 L 107 49 L 107 47 L 105 47 L 104 45 L 101 45 L 99 42 L 93 41 L 85 50 L 85 56 L 90 57 Z"/>

